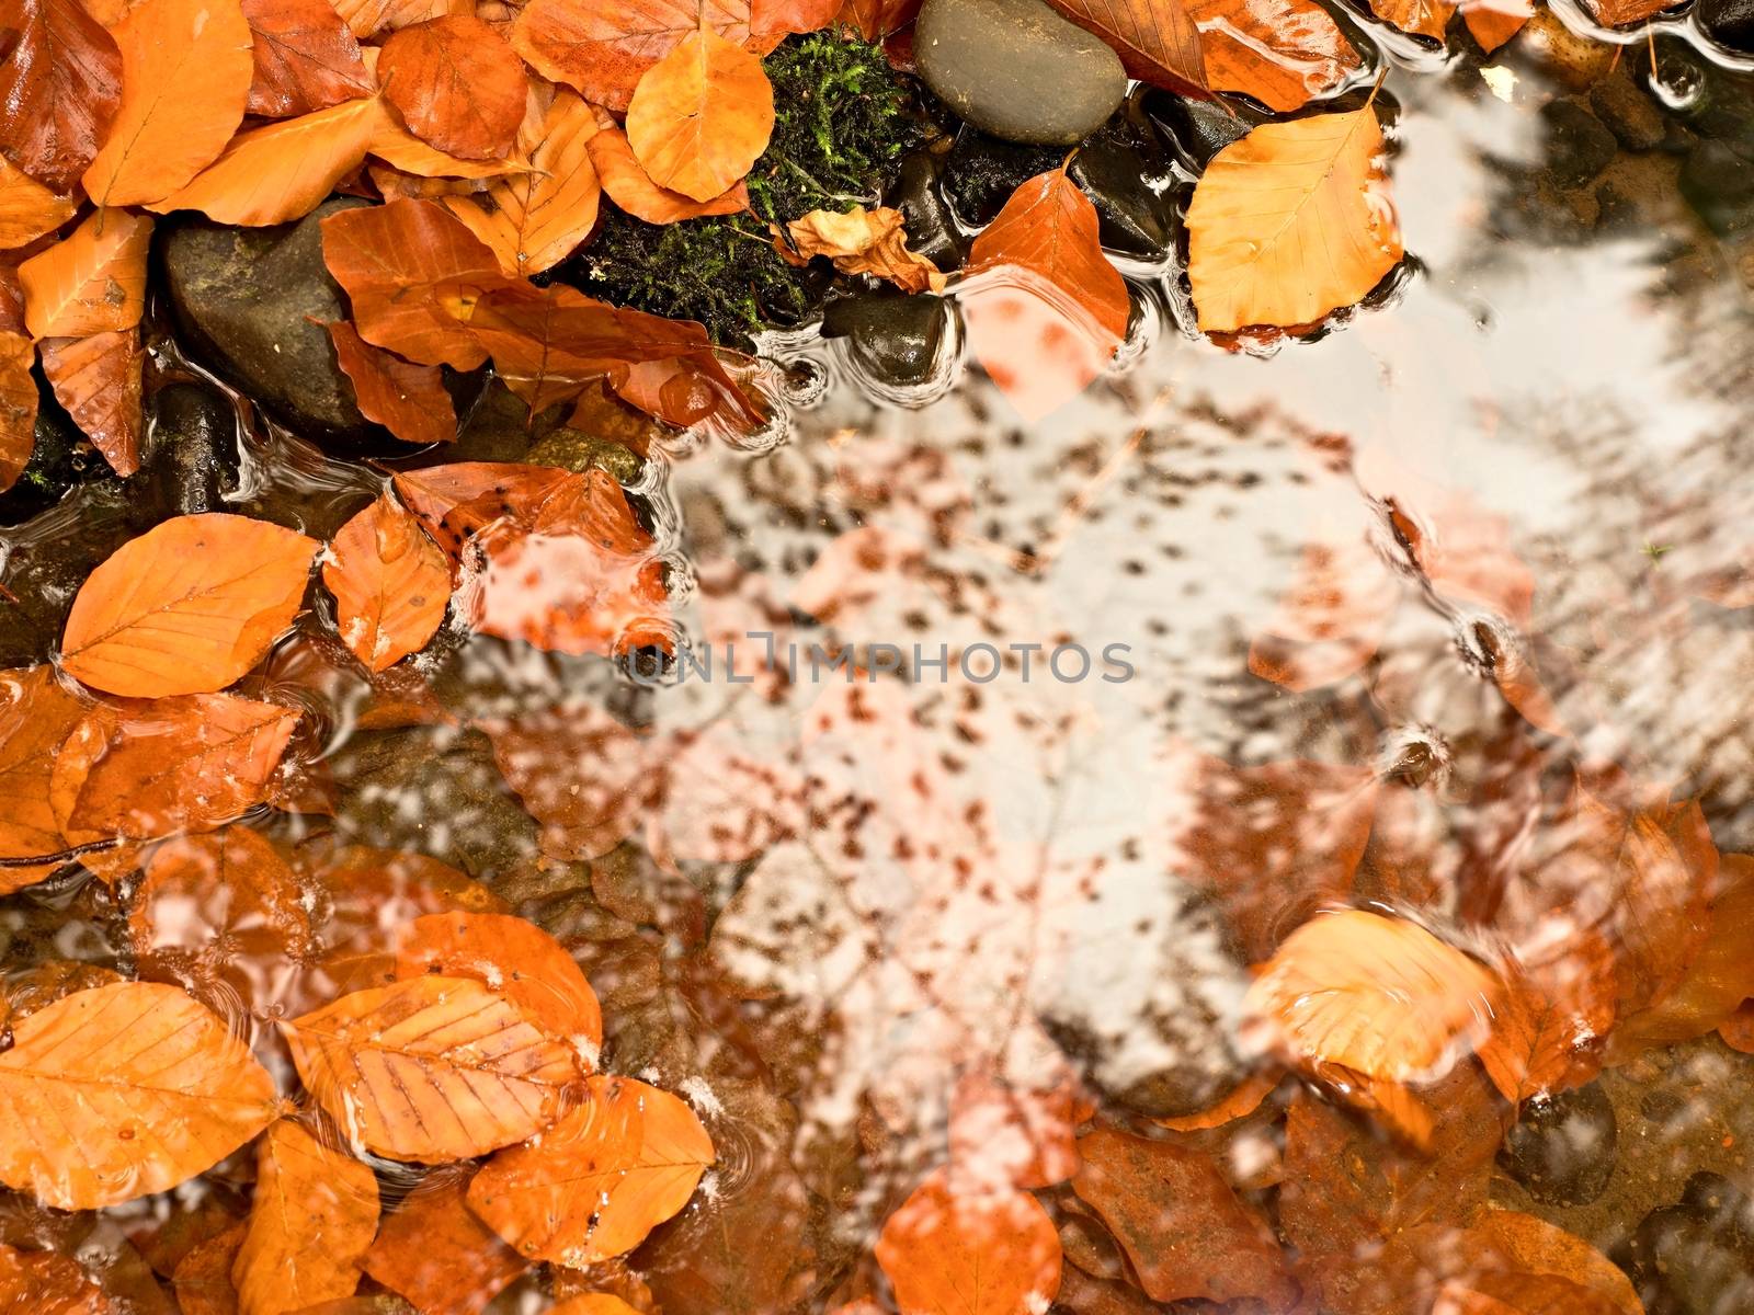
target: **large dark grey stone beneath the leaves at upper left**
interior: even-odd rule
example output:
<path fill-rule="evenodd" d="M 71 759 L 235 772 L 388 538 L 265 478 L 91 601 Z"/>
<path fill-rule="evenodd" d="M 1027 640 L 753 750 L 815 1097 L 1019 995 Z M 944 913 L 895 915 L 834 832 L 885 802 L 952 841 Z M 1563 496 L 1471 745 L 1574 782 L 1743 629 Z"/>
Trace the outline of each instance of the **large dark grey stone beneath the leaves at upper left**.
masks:
<path fill-rule="evenodd" d="M 186 219 L 167 224 L 158 240 L 189 351 L 289 430 L 324 445 L 382 437 L 360 414 L 321 326 L 347 316 L 323 265 L 321 223 L 354 205 L 365 202 L 340 196 L 275 228 Z"/>

